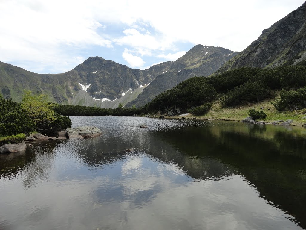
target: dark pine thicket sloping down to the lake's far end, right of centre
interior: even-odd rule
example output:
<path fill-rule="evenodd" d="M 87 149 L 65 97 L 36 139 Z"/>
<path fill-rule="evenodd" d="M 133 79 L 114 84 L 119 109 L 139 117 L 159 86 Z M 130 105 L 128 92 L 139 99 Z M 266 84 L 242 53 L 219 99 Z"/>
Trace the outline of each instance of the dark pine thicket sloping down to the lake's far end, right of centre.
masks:
<path fill-rule="evenodd" d="M 157 95 L 145 107 L 148 112 L 154 112 L 158 110 L 166 111 L 176 105 L 184 111 L 192 106 L 211 102 L 216 97 L 216 90 L 211 84 L 207 83 L 207 78 L 192 77 Z"/>

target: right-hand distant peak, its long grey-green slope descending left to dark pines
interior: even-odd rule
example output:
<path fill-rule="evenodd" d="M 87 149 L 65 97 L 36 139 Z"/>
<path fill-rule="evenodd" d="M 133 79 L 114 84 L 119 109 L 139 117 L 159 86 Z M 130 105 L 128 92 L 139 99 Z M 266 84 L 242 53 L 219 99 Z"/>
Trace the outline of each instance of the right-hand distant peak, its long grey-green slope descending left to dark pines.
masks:
<path fill-rule="evenodd" d="M 188 78 L 209 76 L 238 53 L 222 47 L 196 45 L 177 59 L 168 71 L 157 76 L 134 101 L 126 106 L 139 107 Z"/>

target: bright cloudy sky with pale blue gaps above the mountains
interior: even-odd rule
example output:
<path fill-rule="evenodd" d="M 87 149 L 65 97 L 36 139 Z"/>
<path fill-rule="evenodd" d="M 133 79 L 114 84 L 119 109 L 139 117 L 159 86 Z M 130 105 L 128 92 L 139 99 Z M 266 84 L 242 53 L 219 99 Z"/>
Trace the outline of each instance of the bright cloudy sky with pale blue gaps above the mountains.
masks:
<path fill-rule="evenodd" d="M 0 61 L 63 73 L 99 56 L 146 69 L 196 44 L 242 51 L 304 0 L 0 0 Z"/>

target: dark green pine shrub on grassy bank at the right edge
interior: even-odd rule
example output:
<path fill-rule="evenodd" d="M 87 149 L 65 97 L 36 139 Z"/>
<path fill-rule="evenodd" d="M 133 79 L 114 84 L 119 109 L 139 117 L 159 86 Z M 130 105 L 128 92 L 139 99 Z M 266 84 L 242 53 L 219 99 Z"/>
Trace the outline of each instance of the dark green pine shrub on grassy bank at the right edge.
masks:
<path fill-rule="evenodd" d="M 278 111 L 306 108 L 306 86 L 297 90 L 282 90 L 280 98 L 271 102 L 271 104 Z"/>

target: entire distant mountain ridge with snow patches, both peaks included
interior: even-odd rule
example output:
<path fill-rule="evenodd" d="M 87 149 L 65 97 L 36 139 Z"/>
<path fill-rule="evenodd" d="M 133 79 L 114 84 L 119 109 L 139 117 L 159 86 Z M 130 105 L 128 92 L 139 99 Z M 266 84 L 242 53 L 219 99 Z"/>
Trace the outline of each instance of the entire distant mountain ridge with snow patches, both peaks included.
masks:
<path fill-rule="evenodd" d="M 0 62 L 0 90 L 5 98 L 15 101 L 21 101 L 26 89 L 47 94 L 50 101 L 60 104 L 102 108 L 116 108 L 119 103 L 140 106 L 185 79 L 210 75 L 237 53 L 196 45 L 177 61 L 159 63 L 146 70 L 90 57 L 61 74 L 36 74 Z M 149 90 L 147 86 L 151 86 Z"/>

